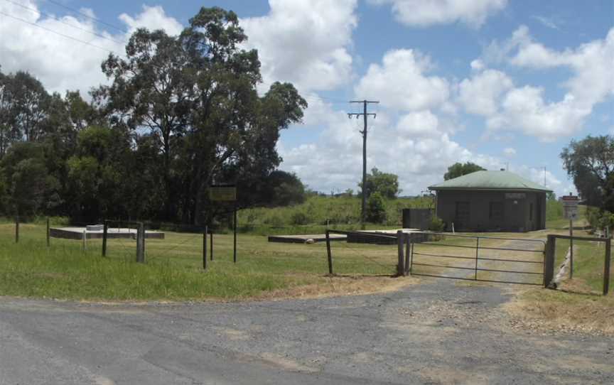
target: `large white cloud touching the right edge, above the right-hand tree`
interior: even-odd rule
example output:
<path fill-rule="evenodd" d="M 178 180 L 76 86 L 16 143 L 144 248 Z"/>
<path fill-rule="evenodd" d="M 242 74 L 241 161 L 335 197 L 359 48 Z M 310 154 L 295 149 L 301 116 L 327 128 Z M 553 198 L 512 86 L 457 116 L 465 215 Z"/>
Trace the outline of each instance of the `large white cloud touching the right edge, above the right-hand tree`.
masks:
<path fill-rule="evenodd" d="M 488 116 L 490 129 L 517 130 L 542 141 L 554 141 L 558 136 L 569 136 L 579 131 L 595 104 L 604 102 L 614 94 L 614 28 L 603 40 L 556 51 L 535 42 L 529 29 L 520 26 L 510 39 L 502 43 L 493 41 L 485 50 L 483 60 L 487 63 L 508 62 L 517 67 L 537 70 L 564 66 L 573 73 L 564 83 L 564 97 L 555 102 L 546 100 L 542 87 L 511 87 L 511 81 L 500 81 L 498 84 L 503 88 L 488 94 L 480 93 L 477 87 L 480 84 L 478 79 L 484 76 L 482 73 L 472 80 L 463 80 L 459 87 L 461 104 L 468 112 Z M 499 74 L 502 79 L 507 78 L 502 72 Z M 481 83 L 483 87 L 492 89 L 497 82 L 483 79 Z M 478 88 L 478 92 L 468 92 L 472 88 Z M 507 89 L 507 93 L 502 94 L 502 89 Z M 484 99 L 481 103 L 469 103 L 471 97 L 477 98 L 480 94 Z"/>

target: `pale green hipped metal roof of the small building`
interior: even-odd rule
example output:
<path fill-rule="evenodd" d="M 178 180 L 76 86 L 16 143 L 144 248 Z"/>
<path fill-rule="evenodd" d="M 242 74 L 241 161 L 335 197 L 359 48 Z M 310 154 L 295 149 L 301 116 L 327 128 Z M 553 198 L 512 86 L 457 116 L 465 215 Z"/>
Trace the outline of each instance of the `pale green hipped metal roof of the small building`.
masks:
<path fill-rule="evenodd" d="M 429 190 L 552 191 L 509 171 L 475 171 L 475 173 L 429 186 Z"/>

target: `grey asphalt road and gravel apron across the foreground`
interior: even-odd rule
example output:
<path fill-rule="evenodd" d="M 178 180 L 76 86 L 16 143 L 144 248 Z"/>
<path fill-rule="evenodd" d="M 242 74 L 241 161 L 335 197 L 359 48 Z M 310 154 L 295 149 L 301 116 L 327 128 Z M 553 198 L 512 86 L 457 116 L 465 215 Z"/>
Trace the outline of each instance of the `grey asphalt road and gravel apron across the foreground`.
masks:
<path fill-rule="evenodd" d="M 0 384 L 612 384 L 614 338 L 512 327 L 510 286 L 314 300 L 0 298 Z"/>

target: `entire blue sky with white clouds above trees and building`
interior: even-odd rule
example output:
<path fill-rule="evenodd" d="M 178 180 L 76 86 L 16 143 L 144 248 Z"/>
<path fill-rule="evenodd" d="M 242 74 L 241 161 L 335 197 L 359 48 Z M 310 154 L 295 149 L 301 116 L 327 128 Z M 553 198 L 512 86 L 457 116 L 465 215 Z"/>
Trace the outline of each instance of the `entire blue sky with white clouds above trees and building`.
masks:
<path fill-rule="evenodd" d="M 576 193 L 559 154 L 614 134 L 614 1 L 0 0 L 0 65 L 64 93 L 108 80 L 136 28 L 175 35 L 201 6 L 232 9 L 256 48 L 265 92 L 292 82 L 309 104 L 282 131 L 280 168 L 325 193 L 358 190 L 367 168 L 399 175 L 402 195 L 471 161 Z"/>

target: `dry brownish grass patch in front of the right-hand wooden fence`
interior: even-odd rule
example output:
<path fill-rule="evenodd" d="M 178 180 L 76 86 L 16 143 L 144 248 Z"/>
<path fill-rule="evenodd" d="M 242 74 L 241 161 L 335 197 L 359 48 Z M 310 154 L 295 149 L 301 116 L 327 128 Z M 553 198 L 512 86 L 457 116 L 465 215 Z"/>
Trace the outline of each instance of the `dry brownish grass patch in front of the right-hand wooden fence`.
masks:
<path fill-rule="evenodd" d="M 530 289 L 505 307 L 527 328 L 614 335 L 614 295 Z"/>

